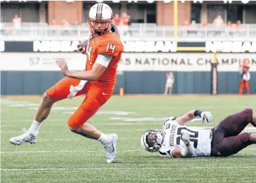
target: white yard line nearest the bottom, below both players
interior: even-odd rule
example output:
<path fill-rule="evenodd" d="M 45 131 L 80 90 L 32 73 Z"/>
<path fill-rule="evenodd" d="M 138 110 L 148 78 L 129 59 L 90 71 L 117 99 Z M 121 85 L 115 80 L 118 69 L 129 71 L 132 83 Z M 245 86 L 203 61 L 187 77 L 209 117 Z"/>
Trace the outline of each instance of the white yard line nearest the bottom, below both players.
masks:
<path fill-rule="evenodd" d="M 141 168 L 24 168 L 24 169 L 9 169 L 3 168 L 1 171 L 101 171 L 101 170 L 176 170 L 176 169 L 234 169 L 234 168 L 256 168 L 256 166 L 192 166 L 192 167 L 141 167 Z"/>

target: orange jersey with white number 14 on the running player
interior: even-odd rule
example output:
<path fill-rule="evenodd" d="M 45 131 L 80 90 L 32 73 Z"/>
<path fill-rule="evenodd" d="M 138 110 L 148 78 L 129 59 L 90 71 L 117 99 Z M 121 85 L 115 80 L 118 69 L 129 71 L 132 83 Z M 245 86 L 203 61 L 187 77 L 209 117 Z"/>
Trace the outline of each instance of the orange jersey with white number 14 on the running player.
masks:
<path fill-rule="evenodd" d="M 86 48 L 86 70 L 91 70 L 98 55 L 109 55 L 112 57 L 104 73 L 92 84 L 100 88 L 113 88 L 116 84 L 116 70 L 118 62 L 122 57 L 124 47 L 118 33 L 109 32 L 105 35 L 89 39 Z"/>

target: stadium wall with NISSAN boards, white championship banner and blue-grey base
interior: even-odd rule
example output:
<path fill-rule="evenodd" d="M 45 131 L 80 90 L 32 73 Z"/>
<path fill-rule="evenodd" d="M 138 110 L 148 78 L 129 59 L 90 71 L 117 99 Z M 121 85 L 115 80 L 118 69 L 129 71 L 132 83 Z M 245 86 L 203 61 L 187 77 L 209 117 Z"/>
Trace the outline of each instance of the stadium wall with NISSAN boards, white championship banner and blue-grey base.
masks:
<path fill-rule="evenodd" d="M 153 41 L 154 42 L 154 41 Z M 171 41 L 157 41 L 155 44 L 141 41 L 125 42 L 125 52 L 118 66 L 117 84 L 125 88 L 126 94 L 162 94 L 165 89 L 165 73 L 174 72 L 173 93 L 209 94 L 211 93 L 211 65 L 214 43 L 179 43 L 179 46 L 205 46 L 207 52 L 179 52 Z M 249 44 L 248 44 L 249 43 Z M 221 46 L 225 53 L 217 54 L 218 93 L 238 93 L 239 64 L 244 58 L 250 60 L 250 93 L 256 88 L 256 48 L 248 42 L 243 52 L 241 44 L 234 50 Z M 71 70 L 82 70 L 86 56 L 75 52 L 77 42 L 65 41 L 39 44 L 38 41 L 6 41 L 1 46 L 1 95 L 41 95 L 64 76 L 55 60 L 63 58 Z M 218 42 L 218 45 L 220 42 Z M 225 44 L 227 44 L 225 42 Z M 232 44 L 232 43 L 231 43 Z M 150 47 L 149 45 L 152 45 Z M 137 46 L 137 48 L 136 48 Z M 138 47 L 139 46 L 139 47 Z M 138 49 L 140 50 L 138 52 Z"/>

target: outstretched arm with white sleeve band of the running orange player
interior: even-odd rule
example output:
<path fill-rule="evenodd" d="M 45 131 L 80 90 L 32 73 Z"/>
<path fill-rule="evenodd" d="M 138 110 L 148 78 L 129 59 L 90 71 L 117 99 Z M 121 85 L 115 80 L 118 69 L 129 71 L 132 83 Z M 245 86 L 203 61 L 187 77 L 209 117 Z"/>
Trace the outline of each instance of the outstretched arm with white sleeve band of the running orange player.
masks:
<path fill-rule="evenodd" d="M 92 70 L 86 70 L 86 71 L 80 71 L 80 72 L 68 70 L 68 66 L 66 65 L 66 61 L 64 61 L 64 59 L 57 60 L 56 64 L 57 66 L 60 67 L 63 75 L 65 75 L 66 77 L 95 81 L 102 75 L 102 73 L 104 73 L 107 66 L 109 65 L 109 61 L 111 60 L 111 58 L 112 57 L 108 55 L 98 55 L 98 58 L 95 61 L 95 64 L 93 65 Z"/>

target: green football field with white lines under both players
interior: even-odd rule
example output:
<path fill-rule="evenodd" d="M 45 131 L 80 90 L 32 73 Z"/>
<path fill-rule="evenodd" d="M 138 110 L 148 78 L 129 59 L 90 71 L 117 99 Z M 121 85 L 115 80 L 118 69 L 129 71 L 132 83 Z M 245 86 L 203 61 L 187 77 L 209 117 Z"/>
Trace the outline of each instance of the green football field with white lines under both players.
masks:
<path fill-rule="evenodd" d="M 68 130 L 68 117 L 82 97 L 58 102 L 40 128 L 36 144 L 14 146 L 10 137 L 29 128 L 40 98 L 1 98 L 1 182 L 256 182 L 256 146 L 226 158 L 165 159 L 140 146 L 150 128 L 188 110 L 212 112 L 210 128 L 244 108 L 256 110 L 256 96 L 112 97 L 89 120 L 104 133 L 118 133 L 116 163 L 107 164 L 101 144 Z M 246 131 L 255 131 L 248 126 Z"/>

